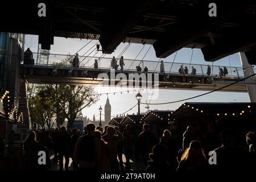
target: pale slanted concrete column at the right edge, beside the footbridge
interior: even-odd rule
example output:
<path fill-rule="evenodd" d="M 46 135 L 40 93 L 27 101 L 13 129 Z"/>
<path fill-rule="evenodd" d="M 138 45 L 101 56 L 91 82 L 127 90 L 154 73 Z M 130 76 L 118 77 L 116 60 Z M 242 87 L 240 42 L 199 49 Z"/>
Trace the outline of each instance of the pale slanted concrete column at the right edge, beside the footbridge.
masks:
<path fill-rule="evenodd" d="M 244 68 L 243 75 L 245 77 L 253 75 L 254 74 L 253 67 L 251 67 L 251 65 L 248 63 L 245 53 L 240 52 L 239 54 L 240 54 L 240 60 L 241 60 L 242 67 Z M 255 77 L 247 78 L 245 81 L 247 81 L 247 82 L 255 81 L 255 80 L 253 80 L 253 78 L 255 78 Z M 246 87 L 248 90 L 250 101 L 256 102 L 256 86 L 255 85 L 246 85 Z"/>

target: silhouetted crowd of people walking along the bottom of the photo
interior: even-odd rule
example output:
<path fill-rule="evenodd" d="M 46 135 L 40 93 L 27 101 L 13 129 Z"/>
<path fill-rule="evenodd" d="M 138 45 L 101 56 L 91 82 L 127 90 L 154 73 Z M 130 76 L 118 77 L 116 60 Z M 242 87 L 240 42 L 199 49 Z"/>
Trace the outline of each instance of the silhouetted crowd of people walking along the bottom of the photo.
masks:
<path fill-rule="evenodd" d="M 245 146 L 240 146 L 241 139 Z M 167 127 L 158 138 L 147 123 L 139 134 L 131 125 L 122 131 L 118 126 L 106 125 L 103 131 L 88 123 L 83 135 L 76 128 L 67 131 L 64 126 L 31 131 L 24 140 L 24 150 L 28 170 L 49 168 L 49 156 L 54 154 L 53 162 L 59 163 L 60 171 L 68 171 L 71 158 L 74 171 L 129 170 L 130 161 L 140 161 L 144 164 L 142 170 L 148 172 L 231 172 L 255 167 L 255 141 L 254 130 L 241 136 L 232 129 L 218 133 L 208 126 L 202 133 L 195 126 L 188 126 L 179 136 Z M 44 168 L 38 165 L 40 150 L 47 152 L 48 165 Z"/>

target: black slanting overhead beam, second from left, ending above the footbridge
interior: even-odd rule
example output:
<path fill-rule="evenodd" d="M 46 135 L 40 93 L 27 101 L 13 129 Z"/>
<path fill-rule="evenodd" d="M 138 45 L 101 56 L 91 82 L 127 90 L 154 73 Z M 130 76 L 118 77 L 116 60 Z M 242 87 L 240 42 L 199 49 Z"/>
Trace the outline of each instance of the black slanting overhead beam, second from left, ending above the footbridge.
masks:
<path fill-rule="evenodd" d="M 113 10 L 114 13 L 109 16 L 100 37 L 102 53 L 112 53 L 155 2 L 156 0 L 127 2 L 121 6 L 125 8 Z"/>

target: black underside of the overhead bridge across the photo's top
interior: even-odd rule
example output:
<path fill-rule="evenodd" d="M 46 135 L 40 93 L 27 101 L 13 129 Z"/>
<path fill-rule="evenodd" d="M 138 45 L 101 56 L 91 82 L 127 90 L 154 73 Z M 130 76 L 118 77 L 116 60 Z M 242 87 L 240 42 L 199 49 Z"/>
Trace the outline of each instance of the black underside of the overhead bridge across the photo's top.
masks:
<path fill-rule="evenodd" d="M 46 3 L 46 17 L 38 4 Z M 210 17 L 209 3 L 217 16 Z M 200 48 L 206 61 L 245 52 L 256 63 L 256 2 L 221 0 L 129 1 L 12 1 L 1 2 L 12 15 L 0 11 L 0 31 L 39 35 L 42 49 L 54 36 L 100 40 L 103 53 L 121 42 L 152 44 L 157 57 L 183 47 Z M 20 13 L 22 10 L 22 13 Z"/>

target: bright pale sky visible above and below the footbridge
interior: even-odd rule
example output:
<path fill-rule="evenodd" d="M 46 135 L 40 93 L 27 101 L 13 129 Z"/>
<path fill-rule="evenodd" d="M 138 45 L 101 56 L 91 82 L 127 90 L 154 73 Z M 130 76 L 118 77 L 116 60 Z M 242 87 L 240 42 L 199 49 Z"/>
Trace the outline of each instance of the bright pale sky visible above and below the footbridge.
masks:
<path fill-rule="evenodd" d="M 30 47 L 32 52 L 37 52 L 38 49 L 38 36 L 36 35 L 26 35 L 25 39 L 25 49 L 27 47 Z M 58 38 L 55 37 L 54 44 L 51 46 L 51 53 L 60 53 L 67 55 L 68 53 L 71 53 L 73 55 L 76 53 L 81 47 L 83 47 L 86 43 L 88 43 L 90 40 L 86 39 L 71 39 L 71 38 Z M 91 48 L 97 41 L 93 40 L 86 46 L 84 49 L 82 49 L 79 52 L 79 55 L 83 55 L 89 48 Z M 126 47 L 127 43 L 121 43 L 117 49 L 115 49 L 114 53 L 112 55 L 107 55 L 105 57 L 113 57 L 118 56 L 121 51 Z M 138 55 L 139 51 L 141 51 L 143 45 L 142 44 L 131 44 L 131 46 L 126 50 L 125 53 L 123 53 L 124 59 L 135 59 L 135 57 Z M 146 54 L 148 48 L 150 45 L 146 45 L 142 52 L 139 54 L 137 59 L 142 59 L 143 56 Z M 94 53 L 92 53 L 93 55 Z M 90 56 L 92 56 L 90 55 Z M 100 57 L 102 55 L 101 51 L 97 53 L 96 56 Z M 166 57 L 165 59 L 161 59 L 164 62 L 172 62 L 175 63 L 189 63 L 191 60 L 192 55 L 192 49 L 191 48 L 182 48 L 177 52 L 175 61 L 174 56 L 175 53 Z M 229 61 L 230 59 L 230 61 Z M 146 54 L 144 57 L 144 60 L 154 60 L 159 61 L 159 58 L 155 56 L 155 50 L 153 47 L 150 48 L 150 51 Z M 192 56 L 192 64 L 210 64 L 207 61 L 204 60 L 203 53 L 201 52 L 201 49 L 194 49 L 193 56 Z M 235 53 L 233 55 L 224 57 L 223 59 L 220 59 L 218 61 L 215 61 L 213 65 L 221 65 L 221 66 L 229 66 L 232 67 L 241 67 L 240 57 L 238 53 Z M 136 89 L 136 88 L 134 88 Z M 128 89 L 128 88 L 110 88 L 110 87 L 103 87 L 103 86 L 96 86 L 95 90 L 98 93 L 111 93 L 111 92 L 119 92 L 119 91 L 125 91 L 125 90 L 134 90 L 134 89 Z M 151 91 L 152 92 L 152 91 Z M 159 103 L 159 102 L 171 102 L 171 101 L 177 101 L 182 100 L 184 98 L 189 98 L 193 96 L 197 96 L 199 94 L 205 93 L 203 91 L 194 91 L 194 90 L 173 90 L 173 89 L 159 89 L 159 97 L 156 100 L 150 101 L 150 93 L 142 93 L 142 102 L 151 102 L 151 103 Z M 82 114 L 86 115 L 89 118 L 93 117 L 93 114 L 96 115 L 96 119 L 99 119 L 99 111 L 98 108 L 102 106 L 104 109 L 106 99 L 109 97 L 110 104 L 112 106 L 112 116 L 115 116 L 117 114 L 124 113 L 125 111 L 129 110 L 127 112 L 128 114 L 136 114 L 138 111 L 138 106 L 135 106 L 134 109 L 130 110 L 131 107 L 133 107 L 135 104 L 137 104 L 137 100 L 135 98 L 135 95 L 137 92 L 129 92 L 129 93 L 117 93 L 117 94 L 102 94 L 100 96 L 100 100 L 90 106 L 89 108 L 85 108 L 82 110 Z M 195 98 L 192 100 L 189 100 L 188 102 L 250 102 L 249 95 L 247 93 L 236 93 L 236 92 L 214 92 L 211 94 L 208 94 L 203 97 Z M 158 109 L 158 110 L 176 110 L 181 104 L 184 102 L 177 102 L 175 104 L 166 104 L 166 105 L 150 105 L 150 110 Z M 141 112 L 146 112 L 147 109 L 145 108 L 146 105 L 141 105 Z M 126 114 L 127 114 L 126 113 Z M 104 111 L 103 113 L 104 114 Z"/>

